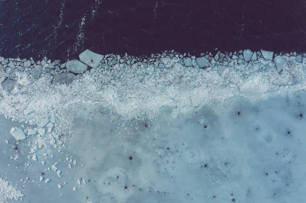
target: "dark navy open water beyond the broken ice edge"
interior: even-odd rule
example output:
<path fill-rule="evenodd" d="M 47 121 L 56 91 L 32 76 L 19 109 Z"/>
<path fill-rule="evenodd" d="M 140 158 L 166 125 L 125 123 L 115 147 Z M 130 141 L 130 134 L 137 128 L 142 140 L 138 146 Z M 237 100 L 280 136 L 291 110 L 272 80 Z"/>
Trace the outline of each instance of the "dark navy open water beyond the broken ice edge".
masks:
<path fill-rule="evenodd" d="M 303 1 L 0 0 L 0 55 L 65 61 L 87 48 L 302 52 L 305 12 Z"/>

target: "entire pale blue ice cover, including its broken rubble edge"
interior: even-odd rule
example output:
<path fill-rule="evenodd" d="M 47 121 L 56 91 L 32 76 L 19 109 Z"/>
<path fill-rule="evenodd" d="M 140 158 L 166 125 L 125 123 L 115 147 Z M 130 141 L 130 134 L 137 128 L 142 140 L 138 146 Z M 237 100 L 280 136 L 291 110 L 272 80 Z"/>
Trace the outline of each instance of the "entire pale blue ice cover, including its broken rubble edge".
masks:
<path fill-rule="evenodd" d="M 304 202 L 304 56 L 0 57 L 0 202 Z"/>

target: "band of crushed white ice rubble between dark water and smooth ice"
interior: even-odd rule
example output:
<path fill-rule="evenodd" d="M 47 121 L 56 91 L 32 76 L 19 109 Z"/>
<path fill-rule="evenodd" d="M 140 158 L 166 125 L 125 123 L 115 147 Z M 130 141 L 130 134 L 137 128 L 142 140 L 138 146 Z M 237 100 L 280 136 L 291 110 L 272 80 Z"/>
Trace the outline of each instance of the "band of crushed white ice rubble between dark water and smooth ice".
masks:
<path fill-rule="evenodd" d="M 0 113 L 29 124 L 56 117 L 59 133 L 69 133 L 81 106 L 109 107 L 121 122 L 153 119 L 163 106 L 171 108 L 173 118 L 202 106 L 224 111 L 237 96 L 254 101 L 305 89 L 304 56 L 246 49 L 201 57 L 174 50 L 134 57 L 87 49 L 80 61 L 63 64 L 46 57 L 38 62 L 0 57 Z M 73 116 L 68 118 L 68 111 Z"/>

